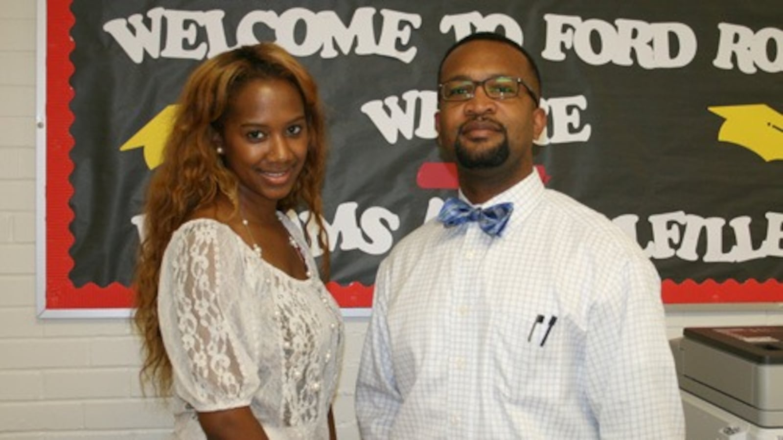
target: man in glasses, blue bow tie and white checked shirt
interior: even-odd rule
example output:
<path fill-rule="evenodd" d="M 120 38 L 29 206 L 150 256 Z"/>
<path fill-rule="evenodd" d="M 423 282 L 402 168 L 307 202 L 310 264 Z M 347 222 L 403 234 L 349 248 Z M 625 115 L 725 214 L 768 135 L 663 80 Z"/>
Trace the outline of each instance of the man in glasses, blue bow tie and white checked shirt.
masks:
<path fill-rule="evenodd" d="M 684 438 L 654 267 L 533 172 L 531 58 L 474 34 L 438 75 L 438 144 L 469 206 L 447 200 L 378 269 L 363 438 Z"/>

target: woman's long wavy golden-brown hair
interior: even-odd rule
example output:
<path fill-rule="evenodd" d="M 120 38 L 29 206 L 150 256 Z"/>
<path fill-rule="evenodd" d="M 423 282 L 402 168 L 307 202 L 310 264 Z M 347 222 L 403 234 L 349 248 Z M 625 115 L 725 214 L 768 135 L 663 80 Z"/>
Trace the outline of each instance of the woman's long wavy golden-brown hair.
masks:
<path fill-rule="evenodd" d="M 233 96 L 254 79 L 283 79 L 300 92 L 308 124 L 309 146 L 301 174 L 290 194 L 277 203 L 281 211 L 305 208 L 308 227 L 316 228 L 323 250 L 324 279 L 329 271 L 329 248 L 322 221 L 320 191 L 325 174 L 327 143 L 323 110 L 316 82 L 288 52 L 272 43 L 241 47 L 201 63 L 190 74 L 176 110 L 164 161 L 147 190 L 144 237 L 135 270 L 134 323 L 143 337 L 144 362 L 140 377 L 160 395 L 171 392 L 171 361 L 161 338 L 157 316 L 158 280 L 171 235 L 194 211 L 210 206 L 221 194 L 239 210 L 236 175 L 216 152 L 214 139 Z M 305 234 L 309 237 L 309 234 Z"/>

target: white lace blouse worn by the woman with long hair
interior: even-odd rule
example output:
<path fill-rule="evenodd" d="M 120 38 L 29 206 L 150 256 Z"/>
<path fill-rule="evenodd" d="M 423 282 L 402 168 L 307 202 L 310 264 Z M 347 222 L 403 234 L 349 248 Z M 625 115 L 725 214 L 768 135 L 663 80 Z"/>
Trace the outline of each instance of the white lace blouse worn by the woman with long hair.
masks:
<path fill-rule="evenodd" d="M 316 262 L 301 233 L 279 214 Z M 171 236 L 158 313 L 175 392 L 175 438 L 205 438 L 198 412 L 250 406 L 270 439 L 328 439 L 342 356 L 339 308 L 317 275 L 296 280 L 207 218 Z"/>

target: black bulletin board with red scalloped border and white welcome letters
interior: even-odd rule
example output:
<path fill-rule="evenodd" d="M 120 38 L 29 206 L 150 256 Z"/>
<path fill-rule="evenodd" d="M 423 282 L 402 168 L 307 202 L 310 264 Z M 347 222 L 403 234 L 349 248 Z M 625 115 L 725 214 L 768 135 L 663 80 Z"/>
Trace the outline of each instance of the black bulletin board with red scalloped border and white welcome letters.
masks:
<path fill-rule="evenodd" d="M 132 312 L 172 105 L 198 63 L 257 41 L 319 82 L 327 287 L 346 316 L 366 315 L 381 259 L 455 193 L 436 74 L 474 31 L 536 58 L 549 117 L 536 169 L 637 240 L 666 305 L 783 301 L 779 0 L 38 1 L 41 316 Z"/>

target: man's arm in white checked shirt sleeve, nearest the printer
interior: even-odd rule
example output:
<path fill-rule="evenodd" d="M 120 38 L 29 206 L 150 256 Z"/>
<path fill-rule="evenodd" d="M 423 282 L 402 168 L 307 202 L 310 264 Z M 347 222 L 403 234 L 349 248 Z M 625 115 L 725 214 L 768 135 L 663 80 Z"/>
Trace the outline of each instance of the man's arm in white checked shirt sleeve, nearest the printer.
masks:
<path fill-rule="evenodd" d="M 590 310 L 586 341 L 587 396 L 601 438 L 682 439 L 659 276 L 646 258 L 613 272 Z"/>

